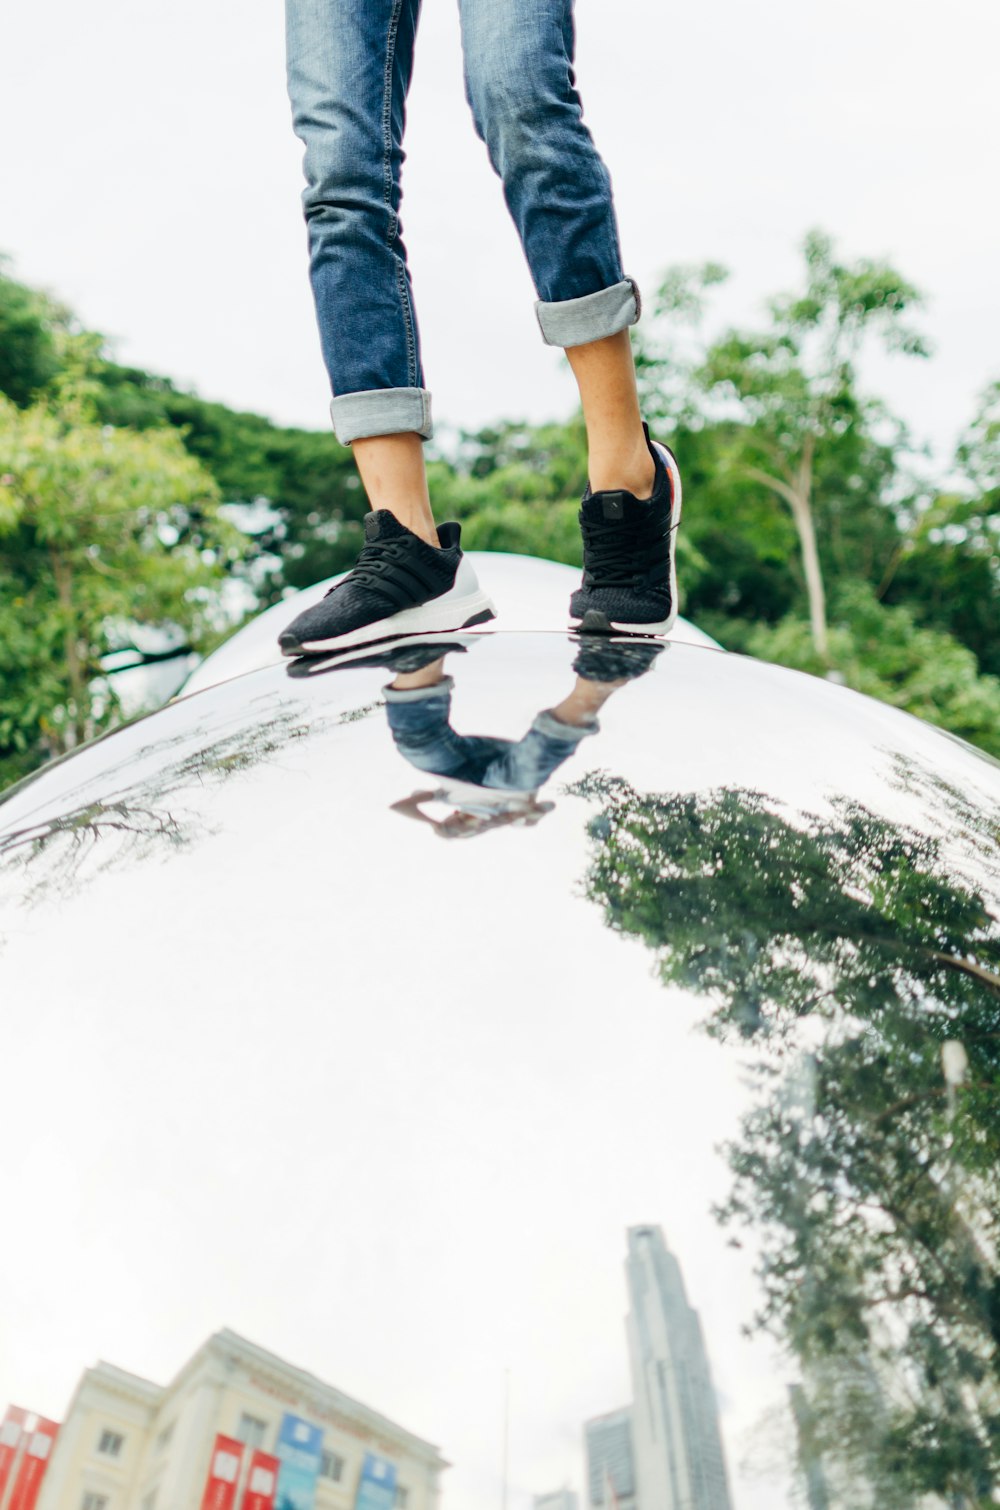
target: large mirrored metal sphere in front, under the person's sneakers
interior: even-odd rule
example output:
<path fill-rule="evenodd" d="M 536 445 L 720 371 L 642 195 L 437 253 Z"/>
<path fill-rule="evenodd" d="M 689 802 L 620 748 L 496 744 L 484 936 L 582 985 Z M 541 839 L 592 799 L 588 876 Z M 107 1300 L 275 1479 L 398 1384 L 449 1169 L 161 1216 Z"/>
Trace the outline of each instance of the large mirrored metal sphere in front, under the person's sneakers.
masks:
<path fill-rule="evenodd" d="M 62 1419 L 230 1327 L 257 1445 L 346 1454 L 317 1505 L 358 1401 L 411 1510 L 994 1502 L 998 812 L 855 693 L 563 634 L 48 769 L 0 803 L 6 1371 Z"/>

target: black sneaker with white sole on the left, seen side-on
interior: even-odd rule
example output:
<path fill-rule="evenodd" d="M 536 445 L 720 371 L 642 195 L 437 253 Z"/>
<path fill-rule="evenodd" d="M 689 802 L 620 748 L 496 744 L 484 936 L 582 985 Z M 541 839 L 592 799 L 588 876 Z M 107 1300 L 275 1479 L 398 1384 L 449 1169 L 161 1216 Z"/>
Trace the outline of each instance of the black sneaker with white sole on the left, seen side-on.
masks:
<path fill-rule="evenodd" d="M 388 509 L 364 516 L 353 571 L 278 636 L 284 655 L 325 655 L 399 634 L 486 624 L 495 609 L 462 556 L 461 525 L 443 524 L 435 550 Z"/>

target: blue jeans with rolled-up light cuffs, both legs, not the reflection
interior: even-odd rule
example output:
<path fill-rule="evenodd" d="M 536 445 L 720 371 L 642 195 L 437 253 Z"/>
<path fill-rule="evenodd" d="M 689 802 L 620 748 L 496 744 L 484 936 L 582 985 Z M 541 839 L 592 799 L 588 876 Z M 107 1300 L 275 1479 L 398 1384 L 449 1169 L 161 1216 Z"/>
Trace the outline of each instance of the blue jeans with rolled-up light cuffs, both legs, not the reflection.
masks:
<path fill-rule="evenodd" d="M 399 219 L 420 0 L 285 0 L 310 276 L 337 436 L 432 433 Z M 582 119 L 573 0 L 459 0 L 465 95 L 503 183 L 550 346 L 639 319 L 612 186 Z"/>

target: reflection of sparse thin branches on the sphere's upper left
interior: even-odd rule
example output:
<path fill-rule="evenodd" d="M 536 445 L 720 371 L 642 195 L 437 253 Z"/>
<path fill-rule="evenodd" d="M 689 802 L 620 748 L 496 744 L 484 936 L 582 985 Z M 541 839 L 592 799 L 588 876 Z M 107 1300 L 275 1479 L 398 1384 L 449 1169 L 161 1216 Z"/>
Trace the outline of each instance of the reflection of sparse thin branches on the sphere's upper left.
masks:
<path fill-rule="evenodd" d="M 39 800 L 36 818 L 0 832 L 0 864 L 21 901 L 33 904 L 50 891 L 66 895 L 113 865 L 183 849 L 211 832 L 192 803 L 195 793 L 252 770 L 307 732 L 301 708 L 279 707 L 270 717 L 243 714 L 237 728 L 215 737 L 195 728 L 140 749 L 116 770 L 82 782 L 56 812 Z M 133 772 L 151 760 L 150 775 L 136 779 Z"/>

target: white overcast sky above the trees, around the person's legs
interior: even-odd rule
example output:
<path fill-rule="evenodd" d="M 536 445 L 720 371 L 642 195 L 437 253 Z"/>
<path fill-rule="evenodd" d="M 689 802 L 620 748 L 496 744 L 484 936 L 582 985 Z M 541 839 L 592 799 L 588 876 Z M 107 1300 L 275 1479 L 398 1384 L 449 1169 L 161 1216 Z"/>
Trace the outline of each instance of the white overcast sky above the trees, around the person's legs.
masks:
<path fill-rule="evenodd" d="M 926 290 L 937 356 L 873 368 L 947 453 L 1000 374 L 1000 8 L 953 0 L 693 6 L 579 0 L 579 82 L 647 291 L 733 267 L 749 320 L 822 225 Z M 500 186 L 462 97 L 455 0 L 424 0 L 403 222 L 440 421 L 574 403 L 545 349 Z M 0 54 L 0 249 L 122 359 L 275 420 L 326 424 L 284 92 L 281 6 L 12 6 Z M 476 338 L 473 338 L 476 337 Z"/>

